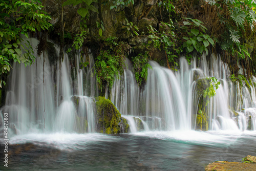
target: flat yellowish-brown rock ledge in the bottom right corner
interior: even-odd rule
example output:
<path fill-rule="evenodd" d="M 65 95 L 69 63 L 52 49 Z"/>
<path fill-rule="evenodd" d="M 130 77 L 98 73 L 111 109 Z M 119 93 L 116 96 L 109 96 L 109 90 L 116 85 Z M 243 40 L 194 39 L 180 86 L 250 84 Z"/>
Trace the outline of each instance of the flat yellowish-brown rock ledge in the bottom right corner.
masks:
<path fill-rule="evenodd" d="M 247 163 L 249 162 L 249 163 Z M 216 161 L 209 163 L 205 167 L 205 171 L 224 171 L 224 170 L 233 170 L 233 171 L 255 171 L 256 170 L 256 157 L 247 156 L 245 163 L 241 162 L 228 162 L 228 161 Z"/>

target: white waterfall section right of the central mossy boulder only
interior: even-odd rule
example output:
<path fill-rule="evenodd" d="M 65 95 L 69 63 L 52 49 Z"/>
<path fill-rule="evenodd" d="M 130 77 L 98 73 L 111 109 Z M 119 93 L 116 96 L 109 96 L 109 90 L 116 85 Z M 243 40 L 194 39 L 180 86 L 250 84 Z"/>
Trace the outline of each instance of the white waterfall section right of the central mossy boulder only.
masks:
<path fill-rule="evenodd" d="M 203 99 L 203 103 L 207 103 L 208 130 L 255 130 L 255 77 L 250 88 L 244 81 L 242 88 L 238 81 L 232 83 L 228 79 L 228 66 L 218 55 L 211 55 L 209 61 L 203 55 L 198 68 L 196 58 L 189 66 L 182 57 L 178 71 L 161 67 L 155 61 L 149 63 L 153 70 L 148 69 L 142 90 L 138 90 L 135 77 L 131 75 L 131 65 L 124 70 L 124 76 L 115 80 L 112 88 L 111 100 L 129 122 L 131 132 L 138 132 L 138 118 L 152 131 L 195 129 L 197 104 L 203 98 L 197 95 L 197 80 L 206 77 L 216 77 L 221 82 L 214 97 Z"/>

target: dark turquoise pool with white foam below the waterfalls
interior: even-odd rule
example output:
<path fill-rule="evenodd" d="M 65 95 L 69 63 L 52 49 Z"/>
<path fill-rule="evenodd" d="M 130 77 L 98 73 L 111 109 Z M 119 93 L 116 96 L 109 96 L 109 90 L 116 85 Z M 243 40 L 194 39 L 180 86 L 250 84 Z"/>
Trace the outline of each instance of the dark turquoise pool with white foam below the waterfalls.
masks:
<path fill-rule="evenodd" d="M 8 169 L 1 170 L 204 170 L 256 156 L 256 132 L 27 134 L 9 143 Z"/>

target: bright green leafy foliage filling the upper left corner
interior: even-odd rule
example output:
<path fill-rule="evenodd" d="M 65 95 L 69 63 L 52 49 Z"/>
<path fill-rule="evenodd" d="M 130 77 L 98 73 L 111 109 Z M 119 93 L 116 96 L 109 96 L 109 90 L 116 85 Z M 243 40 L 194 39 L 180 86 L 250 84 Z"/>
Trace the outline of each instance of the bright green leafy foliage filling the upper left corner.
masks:
<path fill-rule="evenodd" d="M 29 32 L 48 30 L 50 16 L 38 0 L 0 1 L 0 87 L 4 73 L 10 71 L 12 61 L 30 65 L 35 56 L 26 37 Z"/>

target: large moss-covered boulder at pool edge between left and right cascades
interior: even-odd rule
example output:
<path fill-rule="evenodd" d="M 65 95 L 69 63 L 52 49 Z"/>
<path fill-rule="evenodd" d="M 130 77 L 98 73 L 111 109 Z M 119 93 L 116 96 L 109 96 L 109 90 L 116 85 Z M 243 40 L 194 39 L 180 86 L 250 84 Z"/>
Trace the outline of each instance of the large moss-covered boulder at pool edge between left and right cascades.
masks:
<path fill-rule="evenodd" d="M 121 114 L 109 99 L 97 97 L 96 111 L 97 132 L 104 134 L 120 133 Z"/>

